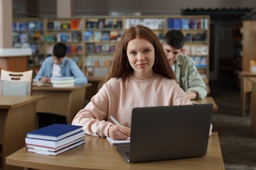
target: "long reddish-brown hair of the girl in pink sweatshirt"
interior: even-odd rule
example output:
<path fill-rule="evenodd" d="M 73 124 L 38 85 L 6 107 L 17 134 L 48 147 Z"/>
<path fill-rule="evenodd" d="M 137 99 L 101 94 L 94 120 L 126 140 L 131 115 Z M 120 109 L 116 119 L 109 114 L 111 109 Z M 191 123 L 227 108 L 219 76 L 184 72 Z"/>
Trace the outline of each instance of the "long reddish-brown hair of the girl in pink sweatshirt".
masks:
<path fill-rule="evenodd" d="M 167 78 L 175 79 L 173 70 L 171 69 L 169 61 L 163 51 L 163 46 L 156 34 L 148 27 L 137 25 L 135 27 L 130 27 L 125 31 L 121 36 L 120 41 L 117 42 L 116 52 L 114 53 L 110 71 L 108 71 L 105 82 L 110 80 L 112 77 L 127 78 L 127 76 L 133 72 L 133 68 L 131 66 L 127 67 L 127 46 L 129 41 L 136 38 L 145 39 L 154 46 L 155 58 L 158 59 L 155 59 L 156 63 L 153 65 L 153 71 L 166 76 Z"/>

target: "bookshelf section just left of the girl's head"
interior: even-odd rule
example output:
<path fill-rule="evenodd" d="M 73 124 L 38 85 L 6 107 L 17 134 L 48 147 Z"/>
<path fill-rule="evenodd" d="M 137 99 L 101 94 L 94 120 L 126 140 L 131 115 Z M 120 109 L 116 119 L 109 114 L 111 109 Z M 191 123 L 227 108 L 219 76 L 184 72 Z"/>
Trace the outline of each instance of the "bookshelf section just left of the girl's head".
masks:
<path fill-rule="evenodd" d="M 118 16 L 85 17 L 83 38 L 85 44 L 85 74 L 106 76 L 123 33 L 123 19 Z"/>

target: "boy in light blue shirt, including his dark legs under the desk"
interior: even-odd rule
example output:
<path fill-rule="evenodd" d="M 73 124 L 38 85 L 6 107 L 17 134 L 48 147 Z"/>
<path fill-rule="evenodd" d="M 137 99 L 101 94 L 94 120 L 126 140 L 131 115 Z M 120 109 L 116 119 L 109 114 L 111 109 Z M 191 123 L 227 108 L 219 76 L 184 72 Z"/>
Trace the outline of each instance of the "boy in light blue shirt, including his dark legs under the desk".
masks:
<path fill-rule="evenodd" d="M 67 46 L 62 42 L 57 42 L 53 47 L 53 56 L 43 61 L 35 80 L 41 82 L 51 82 L 51 77 L 74 76 L 75 86 L 87 84 L 88 80 L 75 61 L 66 57 Z M 66 117 L 38 112 L 39 128 L 49 126 L 54 123 L 66 124 Z"/>

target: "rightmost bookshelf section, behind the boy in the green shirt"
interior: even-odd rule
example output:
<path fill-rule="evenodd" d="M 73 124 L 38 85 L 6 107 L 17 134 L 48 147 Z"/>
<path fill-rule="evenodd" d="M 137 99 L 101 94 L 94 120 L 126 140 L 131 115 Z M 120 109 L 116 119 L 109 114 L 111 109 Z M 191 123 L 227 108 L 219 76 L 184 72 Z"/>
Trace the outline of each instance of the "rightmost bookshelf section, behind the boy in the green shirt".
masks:
<path fill-rule="evenodd" d="M 209 80 L 209 16 L 167 16 L 167 28 L 181 29 L 185 36 L 183 53 L 190 56 L 200 75 Z"/>

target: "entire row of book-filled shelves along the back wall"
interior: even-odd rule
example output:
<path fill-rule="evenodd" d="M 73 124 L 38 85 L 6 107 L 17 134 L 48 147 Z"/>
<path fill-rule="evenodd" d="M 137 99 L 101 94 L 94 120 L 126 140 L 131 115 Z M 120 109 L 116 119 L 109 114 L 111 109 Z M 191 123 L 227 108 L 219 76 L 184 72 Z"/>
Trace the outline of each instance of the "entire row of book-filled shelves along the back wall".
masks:
<path fill-rule="evenodd" d="M 39 66 L 45 57 L 51 55 L 56 42 L 65 42 L 69 48 L 67 56 L 73 58 L 86 75 L 104 76 L 122 33 L 129 27 L 140 24 L 150 27 L 160 41 L 169 29 L 182 29 L 186 37 L 185 53 L 194 59 L 203 78 L 209 79 L 209 16 L 14 18 L 14 23 L 33 20 L 43 23 L 39 30 L 41 41 L 35 43 L 42 46 Z M 72 25 L 76 25 L 76 28 Z M 18 33 L 18 30 L 13 30 Z M 37 61 L 33 59 L 32 62 Z"/>

